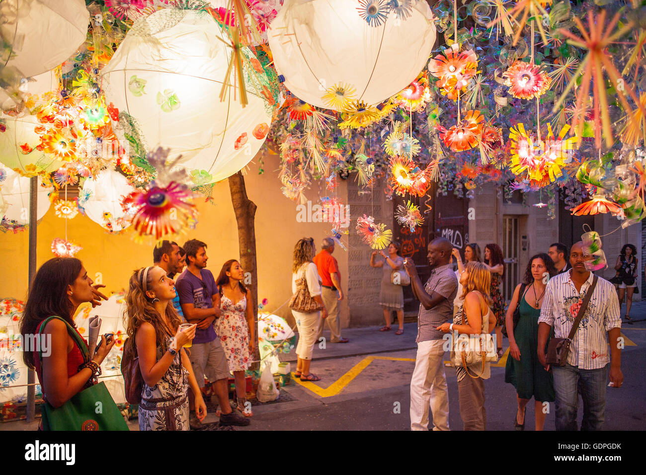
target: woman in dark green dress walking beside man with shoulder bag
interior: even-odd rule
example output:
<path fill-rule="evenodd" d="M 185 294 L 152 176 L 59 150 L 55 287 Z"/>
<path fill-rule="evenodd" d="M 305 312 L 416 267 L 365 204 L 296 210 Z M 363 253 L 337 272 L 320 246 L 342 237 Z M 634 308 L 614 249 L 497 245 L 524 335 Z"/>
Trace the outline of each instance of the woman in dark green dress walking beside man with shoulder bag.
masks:
<path fill-rule="evenodd" d="M 516 388 L 518 410 L 514 417 L 516 430 L 525 429 L 526 405 L 534 397 L 536 430 L 543 430 L 545 412 L 543 403 L 554 401 L 552 374 L 545 371 L 537 357 L 538 317 L 545 296 L 547 277 L 556 275 L 554 262 L 545 254 L 529 260 L 524 284 L 518 284 L 506 315 L 509 335 L 509 356 L 505 367 L 505 383 Z M 521 293 L 522 290 L 522 293 Z M 514 329 L 514 310 L 520 306 L 520 319 Z"/>

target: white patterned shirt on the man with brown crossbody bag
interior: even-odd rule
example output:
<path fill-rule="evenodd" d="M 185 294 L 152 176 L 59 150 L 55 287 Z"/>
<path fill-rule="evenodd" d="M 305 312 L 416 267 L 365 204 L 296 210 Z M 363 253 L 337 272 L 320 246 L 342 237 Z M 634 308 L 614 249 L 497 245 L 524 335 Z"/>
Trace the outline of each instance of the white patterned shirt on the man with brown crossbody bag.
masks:
<path fill-rule="evenodd" d="M 557 274 L 547 282 L 545 300 L 539 322 L 554 325 L 557 338 L 567 338 L 576 319 L 579 305 L 592 284 L 594 275 L 590 272 L 579 293 L 570 278 L 570 271 Z M 598 277 L 588 307 L 585 309 L 579 328 L 572 339 L 567 362 L 582 370 L 603 368 L 610 362 L 608 330 L 621 328 L 619 299 L 614 286 Z"/>

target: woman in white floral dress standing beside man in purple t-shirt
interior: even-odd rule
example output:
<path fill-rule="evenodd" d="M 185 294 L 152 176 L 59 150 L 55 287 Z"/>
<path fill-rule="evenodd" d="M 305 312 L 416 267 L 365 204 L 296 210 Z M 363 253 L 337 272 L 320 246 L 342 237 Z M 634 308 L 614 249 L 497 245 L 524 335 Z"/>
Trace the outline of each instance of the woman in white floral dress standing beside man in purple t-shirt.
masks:
<path fill-rule="evenodd" d="M 242 285 L 244 272 L 240 262 L 227 260 L 218 275 L 220 309 L 222 315 L 215 322 L 215 331 L 227 356 L 229 371 L 236 381 L 238 410 L 246 417 L 253 416 L 251 405 L 247 404 L 247 383 L 245 371 L 249 369 L 251 355 L 258 339 L 255 337 L 253 299 L 251 290 Z"/>

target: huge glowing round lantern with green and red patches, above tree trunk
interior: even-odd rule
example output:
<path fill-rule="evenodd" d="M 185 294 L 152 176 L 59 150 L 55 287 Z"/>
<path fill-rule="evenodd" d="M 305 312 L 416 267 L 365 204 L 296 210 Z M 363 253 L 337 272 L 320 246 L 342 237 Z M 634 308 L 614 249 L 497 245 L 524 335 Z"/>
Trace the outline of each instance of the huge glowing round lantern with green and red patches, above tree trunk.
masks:
<path fill-rule="evenodd" d="M 227 78 L 229 67 L 234 69 L 229 45 L 208 12 L 163 9 L 136 21 L 102 71 L 107 101 L 134 118 L 146 149 L 169 147 L 169 158 L 182 155 L 181 164 L 200 172 L 202 183 L 223 180 L 247 165 L 264 142 L 273 113 L 269 79 L 246 47 L 242 76 L 248 104 L 242 107 L 236 75 Z M 229 87 L 220 101 L 225 80 Z"/>

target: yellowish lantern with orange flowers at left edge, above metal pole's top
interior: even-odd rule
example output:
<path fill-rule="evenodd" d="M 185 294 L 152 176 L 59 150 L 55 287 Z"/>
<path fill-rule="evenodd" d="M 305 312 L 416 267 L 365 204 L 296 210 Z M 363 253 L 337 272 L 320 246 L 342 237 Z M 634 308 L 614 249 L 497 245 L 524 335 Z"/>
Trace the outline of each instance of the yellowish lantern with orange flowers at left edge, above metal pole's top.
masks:
<path fill-rule="evenodd" d="M 63 162 L 36 149 L 41 139 L 34 129 L 40 124 L 35 116 L 8 117 L 4 132 L 0 131 L 0 164 L 25 176 L 56 171 Z"/>

